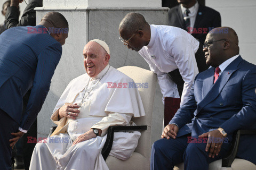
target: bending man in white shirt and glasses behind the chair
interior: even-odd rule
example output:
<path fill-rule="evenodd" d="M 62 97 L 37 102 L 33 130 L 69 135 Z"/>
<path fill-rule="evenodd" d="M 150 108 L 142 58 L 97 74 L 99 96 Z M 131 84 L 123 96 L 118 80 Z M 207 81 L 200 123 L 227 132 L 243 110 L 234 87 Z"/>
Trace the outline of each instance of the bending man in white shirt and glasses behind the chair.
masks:
<path fill-rule="evenodd" d="M 139 13 L 128 13 L 119 25 L 121 40 L 139 52 L 158 77 L 164 97 L 181 98 L 181 106 L 198 73 L 195 59 L 199 42 L 177 27 L 149 25 Z"/>

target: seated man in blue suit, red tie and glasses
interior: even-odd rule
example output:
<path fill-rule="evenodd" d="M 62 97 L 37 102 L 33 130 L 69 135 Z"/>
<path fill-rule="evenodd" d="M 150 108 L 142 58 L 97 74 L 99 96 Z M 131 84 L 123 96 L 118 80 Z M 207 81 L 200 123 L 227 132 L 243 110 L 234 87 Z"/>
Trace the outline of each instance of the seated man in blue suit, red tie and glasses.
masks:
<path fill-rule="evenodd" d="M 212 67 L 196 76 L 185 104 L 154 143 L 151 169 L 182 162 L 185 169 L 208 169 L 227 154 L 236 130 L 256 129 L 256 66 L 239 55 L 236 32 L 213 29 L 203 51 Z M 237 157 L 256 164 L 255 140 L 241 137 Z"/>

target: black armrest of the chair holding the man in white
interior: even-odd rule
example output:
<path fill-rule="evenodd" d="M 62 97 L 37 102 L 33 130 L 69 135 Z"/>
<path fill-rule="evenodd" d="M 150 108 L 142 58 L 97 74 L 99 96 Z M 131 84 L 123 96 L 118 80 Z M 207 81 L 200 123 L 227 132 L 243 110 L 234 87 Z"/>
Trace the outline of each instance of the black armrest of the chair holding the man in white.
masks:
<path fill-rule="evenodd" d="M 114 139 L 114 132 L 116 131 L 129 131 L 129 130 L 133 130 L 133 131 L 139 131 L 139 130 L 147 130 L 147 126 L 110 126 L 108 128 L 108 133 L 107 133 L 107 139 L 105 142 L 104 147 L 102 148 L 101 154 L 104 158 L 104 160 L 107 159 L 110 150 L 112 148 L 113 145 L 113 139 Z"/>

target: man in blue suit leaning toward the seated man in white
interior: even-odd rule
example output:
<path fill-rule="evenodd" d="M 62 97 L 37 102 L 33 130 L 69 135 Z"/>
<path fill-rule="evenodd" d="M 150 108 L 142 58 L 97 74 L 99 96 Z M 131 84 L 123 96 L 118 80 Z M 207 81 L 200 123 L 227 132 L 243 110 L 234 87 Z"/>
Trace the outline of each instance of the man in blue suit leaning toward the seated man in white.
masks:
<path fill-rule="evenodd" d="M 46 13 L 35 27 L 14 27 L 0 36 L 0 167 L 11 169 L 11 147 L 35 121 L 68 37 L 68 22 Z M 26 111 L 22 98 L 31 88 Z"/>

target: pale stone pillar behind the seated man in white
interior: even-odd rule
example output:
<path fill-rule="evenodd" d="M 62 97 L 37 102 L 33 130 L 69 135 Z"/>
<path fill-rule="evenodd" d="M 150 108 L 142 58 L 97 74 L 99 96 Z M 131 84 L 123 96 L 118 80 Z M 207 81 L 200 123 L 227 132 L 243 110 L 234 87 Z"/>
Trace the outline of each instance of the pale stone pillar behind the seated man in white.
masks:
<path fill-rule="evenodd" d="M 167 24 L 168 9 L 161 7 L 161 1 L 158 0 L 44 0 L 43 7 L 35 8 L 37 23 L 50 11 L 62 13 L 69 23 L 69 35 L 66 44 L 62 46 L 61 60 L 38 115 L 38 137 L 46 137 L 50 127 L 54 125 L 50 116 L 69 81 L 85 73 L 83 47 L 89 40 L 106 41 L 110 48 L 111 66 L 118 68 L 134 65 L 149 70 L 146 61 L 137 52 L 127 49 L 118 39 L 118 26 L 129 12 L 141 13 L 150 24 Z M 157 85 L 151 142 L 159 139 L 162 134 L 163 115 L 162 94 Z"/>

